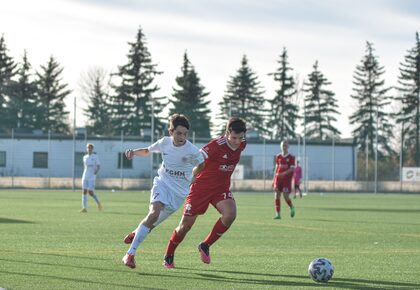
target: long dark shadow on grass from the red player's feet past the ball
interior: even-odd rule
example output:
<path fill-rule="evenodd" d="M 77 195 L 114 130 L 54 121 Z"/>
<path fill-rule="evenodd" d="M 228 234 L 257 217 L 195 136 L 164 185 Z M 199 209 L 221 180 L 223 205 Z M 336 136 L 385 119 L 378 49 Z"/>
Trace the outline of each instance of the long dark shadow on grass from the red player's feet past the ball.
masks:
<path fill-rule="evenodd" d="M 406 283 L 406 282 L 396 282 L 396 281 L 375 281 L 367 279 L 345 279 L 345 278 L 333 278 L 329 283 L 315 283 L 310 280 L 307 275 L 281 275 L 274 273 L 258 273 L 258 272 L 242 272 L 242 271 L 229 271 L 229 270 L 203 270 L 203 269 L 190 269 L 190 268 L 177 268 L 179 270 L 186 270 L 189 273 L 196 272 L 195 274 L 200 276 L 201 279 L 209 281 L 218 281 L 218 282 L 227 282 L 227 283 L 245 283 L 245 284 L 260 284 L 260 285 L 277 285 L 277 286 L 323 286 L 331 288 L 345 288 L 345 289 L 395 289 L 402 288 L 405 289 L 420 289 L 420 284 L 418 283 Z M 212 272 L 212 274 L 200 273 L 200 272 Z M 241 275 L 239 278 L 225 277 L 223 275 L 216 275 L 214 273 L 226 273 L 226 274 L 238 274 Z M 262 276 L 270 277 L 270 279 L 244 279 L 242 275 L 247 276 Z M 274 277 L 281 277 L 282 279 L 294 278 L 302 279 L 305 281 L 285 281 L 285 280 L 274 280 Z M 315 283 L 315 284 L 314 284 Z"/>

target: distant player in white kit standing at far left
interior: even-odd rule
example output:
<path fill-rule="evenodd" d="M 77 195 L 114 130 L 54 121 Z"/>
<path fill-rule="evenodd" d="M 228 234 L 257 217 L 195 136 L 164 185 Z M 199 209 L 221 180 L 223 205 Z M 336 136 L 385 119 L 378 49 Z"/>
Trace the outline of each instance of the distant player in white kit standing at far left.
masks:
<path fill-rule="evenodd" d="M 82 209 L 80 212 L 87 212 L 87 193 L 93 197 L 96 201 L 98 209 L 102 209 L 102 204 L 99 201 L 98 196 L 95 194 L 95 181 L 96 181 L 96 174 L 98 173 L 99 169 L 101 168 L 101 163 L 99 162 L 99 157 L 96 153 L 93 153 L 93 144 L 88 143 L 86 144 L 86 152 L 87 154 L 83 156 L 83 176 L 82 176 L 82 188 L 83 188 L 83 195 L 82 195 Z"/>

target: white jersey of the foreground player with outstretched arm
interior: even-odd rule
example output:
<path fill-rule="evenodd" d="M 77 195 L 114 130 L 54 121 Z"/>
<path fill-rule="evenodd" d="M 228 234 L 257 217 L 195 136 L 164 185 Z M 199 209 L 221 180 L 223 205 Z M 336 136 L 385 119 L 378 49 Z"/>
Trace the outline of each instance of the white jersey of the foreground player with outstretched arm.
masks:
<path fill-rule="evenodd" d="M 192 179 L 192 169 L 204 162 L 200 150 L 190 141 L 176 147 L 171 137 L 163 137 L 150 145 L 150 152 L 162 155 L 162 165 L 155 177 L 155 183 L 162 182 L 167 189 L 178 196 L 185 197 Z"/>

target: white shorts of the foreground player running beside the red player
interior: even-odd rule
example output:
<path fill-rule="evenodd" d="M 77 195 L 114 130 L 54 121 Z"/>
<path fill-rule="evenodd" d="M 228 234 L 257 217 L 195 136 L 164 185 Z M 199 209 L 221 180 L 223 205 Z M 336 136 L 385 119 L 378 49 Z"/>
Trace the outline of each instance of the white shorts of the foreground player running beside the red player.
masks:
<path fill-rule="evenodd" d="M 153 179 L 153 187 L 150 190 L 150 204 L 155 202 L 164 204 L 158 220 L 153 225 L 157 226 L 176 212 L 184 204 L 185 197 L 186 195 L 181 196 L 170 190 L 159 178 Z"/>

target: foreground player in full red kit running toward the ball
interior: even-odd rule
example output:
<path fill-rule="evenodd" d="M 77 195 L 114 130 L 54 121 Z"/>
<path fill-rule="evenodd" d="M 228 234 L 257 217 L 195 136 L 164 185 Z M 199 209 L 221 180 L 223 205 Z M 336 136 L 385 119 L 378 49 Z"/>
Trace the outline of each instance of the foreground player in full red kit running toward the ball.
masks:
<path fill-rule="evenodd" d="M 193 169 L 196 177 L 184 205 L 184 212 L 177 228 L 172 233 L 166 248 L 163 265 L 174 268 L 176 247 L 194 225 L 197 217 L 213 205 L 221 214 L 208 236 L 198 245 L 201 260 L 210 263 L 210 246 L 232 225 L 236 218 L 236 203 L 230 191 L 230 177 L 245 149 L 246 124 L 240 118 L 231 118 L 224 136 L 204 145 L 201 152 L 204 163 Z"/>

